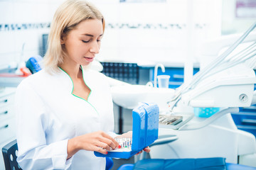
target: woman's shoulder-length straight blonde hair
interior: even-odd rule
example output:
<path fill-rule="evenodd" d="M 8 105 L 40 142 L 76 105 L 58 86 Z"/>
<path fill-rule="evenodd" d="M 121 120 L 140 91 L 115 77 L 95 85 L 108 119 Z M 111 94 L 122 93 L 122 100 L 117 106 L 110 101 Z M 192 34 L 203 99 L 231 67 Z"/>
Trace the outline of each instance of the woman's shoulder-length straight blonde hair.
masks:
<path fill-rule="evenodd" d="M 105 20 L 102 13 L 87 1 L 68 0 L 58 7 L 50 25 L 48 50 L 43 57 L 44 68 L 47 72 L 57 71 L 58 65 L 63 63 L 63 57 L 66 56 L 60 44 L 63 36 L 68 35 L 70 30 L 74 30 L 80 22 L 88 19 L 101 20 L 104 32 Z"/>

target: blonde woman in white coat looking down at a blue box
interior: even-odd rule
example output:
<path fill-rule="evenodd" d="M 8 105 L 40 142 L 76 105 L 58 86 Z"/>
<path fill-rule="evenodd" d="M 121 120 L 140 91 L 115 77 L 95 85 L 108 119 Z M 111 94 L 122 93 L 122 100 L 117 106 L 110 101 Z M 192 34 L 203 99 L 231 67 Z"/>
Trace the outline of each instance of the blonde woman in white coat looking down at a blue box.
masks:
<path fill-rule="evenodd" d="M 65 1 L 55 12 L 44 69 L 16 93 L 22 169 L 105 169 L 105 158 L 93 151 L 107 154 L 119 146 L 110 87 L 88 68 L 104 28 L 100 11 L 85 1 Z"/>

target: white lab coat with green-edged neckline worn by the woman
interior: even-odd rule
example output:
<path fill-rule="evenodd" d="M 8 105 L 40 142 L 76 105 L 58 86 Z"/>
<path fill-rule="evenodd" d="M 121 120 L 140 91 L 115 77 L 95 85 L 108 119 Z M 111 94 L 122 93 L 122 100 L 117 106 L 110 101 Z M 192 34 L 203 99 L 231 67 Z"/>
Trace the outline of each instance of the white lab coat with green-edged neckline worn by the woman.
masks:
<path fill-rule="evenodd" d="M 66 160 L 68 139 L 97 130 L 114 137 L 113 103 L 104 74 L 82 69 L 91 89 L 85 101 L 72 94 L 73 81 L 60 69 L 41 72 L 16 92 L 18 164 L 22 169 L 105 169 L 105 158 L 80 150 Z"/>

